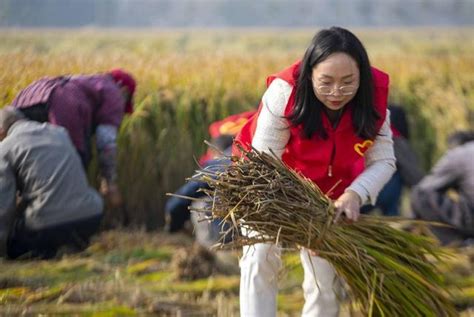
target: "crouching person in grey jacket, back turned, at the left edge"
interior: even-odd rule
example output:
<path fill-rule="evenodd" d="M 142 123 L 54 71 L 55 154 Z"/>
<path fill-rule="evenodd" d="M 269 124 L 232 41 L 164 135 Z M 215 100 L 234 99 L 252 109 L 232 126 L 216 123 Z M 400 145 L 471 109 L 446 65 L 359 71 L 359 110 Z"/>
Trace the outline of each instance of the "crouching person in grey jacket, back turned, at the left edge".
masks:
<path fill-rule="evenodd" d="M 0 256 L 54 257 L 82 250 L 102 219 L 67 131 L 0 109 Z"/>

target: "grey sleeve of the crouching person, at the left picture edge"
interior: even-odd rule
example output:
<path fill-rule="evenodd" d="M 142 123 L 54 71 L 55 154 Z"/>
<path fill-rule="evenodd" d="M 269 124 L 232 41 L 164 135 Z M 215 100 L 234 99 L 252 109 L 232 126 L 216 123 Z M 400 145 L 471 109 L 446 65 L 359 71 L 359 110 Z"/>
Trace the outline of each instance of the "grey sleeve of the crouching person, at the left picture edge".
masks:
<path fill-rule="evenodd" d="M 6 254 L 7 237 L 15 209 L 15 173 L 5 156 L 0 154 L 0 257 Z"/>

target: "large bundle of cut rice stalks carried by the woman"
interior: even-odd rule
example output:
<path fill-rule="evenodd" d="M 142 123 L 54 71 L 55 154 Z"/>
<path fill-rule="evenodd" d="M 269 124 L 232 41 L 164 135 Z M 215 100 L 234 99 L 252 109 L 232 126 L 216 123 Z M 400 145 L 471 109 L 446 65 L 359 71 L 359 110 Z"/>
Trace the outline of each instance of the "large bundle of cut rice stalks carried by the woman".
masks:
<path fill-rule="evenodd" d="M 238 236 L 234 246 L 271 242 L 316 250 L 368 316 L 457 315 L 428 260 L 443 255 L 432 240 L 394 229 L 383 217 L 334 223 L 333 202 L 313 182 L 269 154 L 243 152 L 224 171 L 204 169 L 193 178 L 210 186 L 212 199 L 195 211 L 253 232 Z"/>

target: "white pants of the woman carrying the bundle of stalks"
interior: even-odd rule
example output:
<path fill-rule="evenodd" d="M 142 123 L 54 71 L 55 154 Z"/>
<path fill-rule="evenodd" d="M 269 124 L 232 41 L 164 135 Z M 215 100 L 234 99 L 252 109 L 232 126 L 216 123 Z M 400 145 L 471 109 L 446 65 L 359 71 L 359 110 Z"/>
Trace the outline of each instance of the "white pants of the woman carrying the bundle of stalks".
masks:
<path fill-rule="evenodd" d="M 282 266 L 281 251 L 275 244 L 245 246 L 240 260 L 240 315 L 243 317 L 276 316 L 278 274 Z M 339 314 L 336 292 L 340 284 L 328 261 L 300 252 L 304 269 L 305 304 L 302 316 L 332 317 Z"/>

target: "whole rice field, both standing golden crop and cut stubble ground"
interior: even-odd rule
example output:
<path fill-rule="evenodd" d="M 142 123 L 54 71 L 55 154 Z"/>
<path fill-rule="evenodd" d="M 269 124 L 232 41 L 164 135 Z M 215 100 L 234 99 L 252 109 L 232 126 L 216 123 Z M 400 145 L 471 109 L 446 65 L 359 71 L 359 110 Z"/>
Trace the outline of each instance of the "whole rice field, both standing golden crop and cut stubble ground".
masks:
<path fill-rule="evenodd" d="M 390 74 L 391 101 L 409 113 L 411 142 L 425 170 L 446 149 L 451 132 L 474 126 L 473 31 L 354 30 L 372 64 Z M 109 213 L 128 218 L 133 228 L 156 229 L 164 222 L 165 193 L 196 168 L 193 157 L 205 150 L 209 123 L 255 107 L 266 76 L 301 58 L 314 32 L 0 30 L 0 107 L 41 76 L 113 67 L 131 71 L 139 84 L 136 111 L 124 121 L 119 140 L 125 206 Z M 94 174 L 92 168 L 91 181 Z M 0 314 L 237 315 L 237 254 L 226 255 L 230 268 L 210 278 L 176 281 L 172 258 L 178 247 L 191 244 L 189 237 L 181 238 L 110 232 L 79 255 L 0 262 Z M 455 254 L 443 270 L 458 309 L 469 316 L 473 254 Z M 297 256 L 288 254 L 285 261 L 279 310 L 297 316 L 302 272 Z M 344 309 L 349 314 L 349 307 Z"/>

